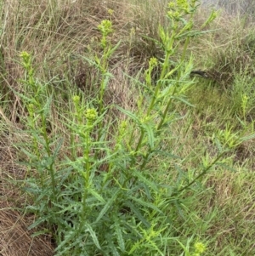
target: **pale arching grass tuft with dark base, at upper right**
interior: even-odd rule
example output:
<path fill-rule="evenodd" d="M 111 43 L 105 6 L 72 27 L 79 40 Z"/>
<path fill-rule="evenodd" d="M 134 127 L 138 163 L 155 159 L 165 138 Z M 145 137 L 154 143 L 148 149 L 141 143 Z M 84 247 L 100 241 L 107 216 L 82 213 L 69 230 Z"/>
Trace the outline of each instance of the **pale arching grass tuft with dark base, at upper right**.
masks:
<path fill-rule="evenodd" d="M 202 24 L 205 14 L 207 10 L 202 8 L 198 23 Z M 251 50 L 253 26 L 241 14 L 232 15 L 222 9 L 218 18 L 207 27 L 212 32 L 200 37 L 197 44 L 193 43 L 192 52 L 199 56 L 197 67 L 207 71 L 220 88 L 231 88 L 237 74 L 255 75 L 254 50 Z"/>

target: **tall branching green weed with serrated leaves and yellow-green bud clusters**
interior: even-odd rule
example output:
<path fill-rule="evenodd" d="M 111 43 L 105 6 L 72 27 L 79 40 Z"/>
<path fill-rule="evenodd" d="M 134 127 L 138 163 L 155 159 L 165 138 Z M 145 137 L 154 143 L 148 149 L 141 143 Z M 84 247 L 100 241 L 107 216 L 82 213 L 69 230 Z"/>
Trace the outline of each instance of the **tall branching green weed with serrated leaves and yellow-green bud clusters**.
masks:
<path fill-rule="evenodd" d="M 139 87 L 137 109 L 129 111 L 119 105 L 105 105 L 105 90 L 111 81 L 109 63 L 111 54 L 120 43 L 111 45 L 111 20 L 103 20 L 101 55 L 87 60 L 100 72 L 98 96 L 89 99 L 86 94 L 72 95 L 72 118 L 65 117 L 63 125 L 70 131 L 70 141 L 53 138 L 49 115 L 53 96 L 48 84 L 37 81 L 31 65 L 31 55 L 20 55 L 26 76 L 21 81 L 24 92 L 17 93 L 27 111 L 27 134 L 30 146 L 20 146 L 31 169 L 25 185 L 35 213 L 31 229 L 54 236 L 56 255 L 201 255 L 205 247 L 193 237 L 182 237 L 179 232 L 179 214 L 182 198 L 208 170 L 224 160 L 229 149 L 247 139 L 226 130 L 218 139 L 218 155 L 210 160 L 207 153 L 201 158 L 201 169 L 192 179 L 180 179 L 166 185 L 150 173 L 150 164 L 157 156 L 173 157 L 171 149 L 162 150 L 164 134 L 179 118 L 175 104 L 188 104 L 184 94 L 192 89 L 190 80 L 192 56 L 187 55 L 190 38 L 199 36 L 194 31 L 194 14 L 198 1 L 177 0 L 168 4 L 169 26 L 159 28 L 164 58 L 152 57 L 144 72 L 144 82 L 133 79 Z M 214 13 L 206 26 L 215 18 Z M 173 66 L 171 58 L 178 56 Z M 153 71 L 160 75 L 153 80 Z M 111 110 L 124 118 L 116 118 Z M 60 136 L 61 137 L 61 136 Z M 217 138 L 217 135 L 212 139 Z M 238 143 L 237 143 L 238 142 Z M 64 146 L 70 150 L 59 156 Z M 181 146 L 181 145 L 180 145 Z M 173 162 L 174 162 L 173 157 Z M 166 170 L 167 171 L 167 170 Z M 188 175 L 188 174 L 187 174 Z M 187 196 L 187 195 L 186 195 Z M 198 235 L 197 235 L 198 236 Z M 184 246 L 184 239 L 187 246 Z M 182 253 L 183 252 L 183 253 Z"/>

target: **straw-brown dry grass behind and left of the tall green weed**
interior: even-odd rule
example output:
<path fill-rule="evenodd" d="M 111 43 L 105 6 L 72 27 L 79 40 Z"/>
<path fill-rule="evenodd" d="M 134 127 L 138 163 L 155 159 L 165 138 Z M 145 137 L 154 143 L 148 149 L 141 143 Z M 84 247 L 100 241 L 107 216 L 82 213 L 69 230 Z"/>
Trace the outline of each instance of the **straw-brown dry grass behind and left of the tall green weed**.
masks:
<path fill-rule="evenodd" d="M 108 9 L 113 9 L 109 14 Z M 23 106 L 20 99 L 14 96 L 10 88 L 20 90 L 17 82 L 23 77 L 20 68 L 19 54 L 27 51 L 34 57 L 33 62 L 39 79 L 47 81 L 55 77 L 56 90 L 60 94 L 66 87 L 82 89 L 88 92 L 91 84 L 95 83 L 97 76 L 94 67 L 89 66 L 82 60 L 81 56 L 90 57 L 99 52 L 99 31 L 96 27 L 101 20 L 111 19 L 116 37 L 112 37 L 112 43 L 120 38 L 122 47 L 118 49 L 112 60 L 112 80 L 108 96 L 105 100 L 111 103 L 129 103 L 130 92 L 127 90 L 128 79 L 123 75 L 137 72 L 149 54 L 139 51 L 139 45 L 143 39 L 137 34 L 143 28 L 139 25 L 140 12 L 133 13 L 135 4 L 116 1 L 8 1 L 2 4 L 0 10 L 3 16 L 3 34 L 0 38 L 1 59 L 1 99 L 6 102 L 1 109 L 1 145 L 0 145 L 0 254 L 3 256 L 14 255 L 53 255 L 53 246 L 50 237 L 31 237 L 31 231 L 27 227 L 31 225 L 33 217 L 27 217 L 16 211 L 20 208 L 26 198 L 20 197 L 20 190 L 12 185 L 12 180 L 22 180 L 26 171 L 20 169 L 18 162 L 20 152 L 14 147 L 14 143 L 26 141 L 20 133 L 19 116 L 24 116 Z M 32 14 L 32 15 L 31 15 Z M 134 27 L 136 37 L 131 35 Z M 137 42 L 140 40 L 140 43 Z M 148 47 L 150 49 L 150 47 Z M 63 84 L 59 81 L 66 79 L 69 83 Z M 124 82 L 125 81 L 125 82 Z M 66 93 L 66 92 L 65 92 Z M 127 95 L 128 94 L 128 95 Z M 114 97 L 112 98 L 112 95 Z M 55 102 L 55 110 L 52 111 L 54 119 L 54 133 L 64 133 L 59 118 L 59 108 L 69 108 L 65 99 Z M 20 127 L 20 128 L 19 128 Z M 22 131 L 21 131 L 22 132 Z M 20 135 L 17 135 L 17 134 Z M 21 136 L 21 137 L 20 137 Z M 66 134 L 68 137 L 68 134 Z"/>

